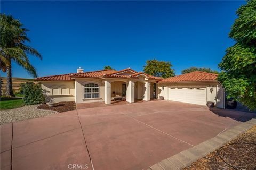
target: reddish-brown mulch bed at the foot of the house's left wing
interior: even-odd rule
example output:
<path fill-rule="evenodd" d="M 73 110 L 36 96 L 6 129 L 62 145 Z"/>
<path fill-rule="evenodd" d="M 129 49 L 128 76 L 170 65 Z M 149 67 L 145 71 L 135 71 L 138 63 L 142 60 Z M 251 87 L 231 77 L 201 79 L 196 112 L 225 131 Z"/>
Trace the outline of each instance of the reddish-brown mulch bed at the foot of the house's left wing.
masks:
<path fill-rule="evenodd" d="M 44 109 L 44 110 L 52 110 L 57 111 L 59 113 L 61 112 L 67 112 L 72 111 L 76 109 L 76 103 L 75 101 L 65 101 L 65 102 L 59 102 L 57 106 L 55 107 L 49 107 L 46 103 L 42 104 L 37 107 L 38 109 Z"/>

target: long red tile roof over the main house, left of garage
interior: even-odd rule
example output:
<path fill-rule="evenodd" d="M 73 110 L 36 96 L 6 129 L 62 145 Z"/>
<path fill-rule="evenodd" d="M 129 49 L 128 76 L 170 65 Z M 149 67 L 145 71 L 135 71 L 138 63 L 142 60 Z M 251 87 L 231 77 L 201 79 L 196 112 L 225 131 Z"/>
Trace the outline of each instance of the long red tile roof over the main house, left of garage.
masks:
<path fill-rule="evenodd" d="M 121 75 L 119 73 L 123 73 L 126 71 L 131 71 L 134 72 L 134 74 L 131 75 Z M 145 74 L 143 72 L 136 72 L 130 68 L 123 69 L 120 71 L 116 70 L 98 70 L 98 71 L 91 71 L 91 72 L 84 72 L 84 73 L 70 73 L 70 74 L 63 74 L 63 75 L 51 75 L 51 76 L 46 76 L 46 77 L 39 77 L 36 78 L 35 80 L 38 81 L 74 81 L 71 78 L 72 77 L 81 77 L 81 78 L 138 78 L 138 75 L 146 75 L 149 79 L 151 80 L 163 80 L 162 78 L 155 77 L 152 75 Z"/>

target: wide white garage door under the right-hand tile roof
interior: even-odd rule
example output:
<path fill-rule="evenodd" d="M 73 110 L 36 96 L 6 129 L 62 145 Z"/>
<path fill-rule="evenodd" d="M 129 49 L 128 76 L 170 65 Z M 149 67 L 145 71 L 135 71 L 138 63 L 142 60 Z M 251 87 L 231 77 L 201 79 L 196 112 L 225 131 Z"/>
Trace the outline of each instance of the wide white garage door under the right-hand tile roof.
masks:
<path fill-rule="evenodd" d="M 206 105 L 206 88 L 169 88 L 169 100 Z"/>

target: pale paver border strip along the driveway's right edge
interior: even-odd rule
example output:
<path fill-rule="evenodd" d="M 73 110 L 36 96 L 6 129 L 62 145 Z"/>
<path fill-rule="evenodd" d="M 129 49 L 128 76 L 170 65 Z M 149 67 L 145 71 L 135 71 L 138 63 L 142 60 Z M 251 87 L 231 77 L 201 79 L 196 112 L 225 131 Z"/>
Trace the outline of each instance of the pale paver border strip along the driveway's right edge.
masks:
<path fill-rule="evenodd" d="M 205 157 L 207 154 L 210 154 L 214 150 L 225 145 L 227 142 L 247 131 L 254 125 L 256 125 L 256 118 L 252 118 L 250 121 L 241 123 L 226 132 L 218 134 L 214 138 L 199 143 L 198 145 L 171 156 L 170 158 L 164 159 L 161 162 L 152 165 L 148 170 L 178 170 L 190 166 L 193 162 L 196 162 L 196 160 Z"/>

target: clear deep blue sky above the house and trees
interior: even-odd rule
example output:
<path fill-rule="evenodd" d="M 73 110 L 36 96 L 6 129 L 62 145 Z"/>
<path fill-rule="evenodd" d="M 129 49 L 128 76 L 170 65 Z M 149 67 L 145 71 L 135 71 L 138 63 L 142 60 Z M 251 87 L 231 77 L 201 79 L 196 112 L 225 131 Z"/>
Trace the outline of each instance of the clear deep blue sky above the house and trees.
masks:
<path fill-rule="evenodd" d="M 175 73 L 218 63 L 227 47 L 235 11 L 245 1 L 1 1 L 29 29 L 30 57 L 39 76 L 131 67 L 170 61 Z M 1 76 L 5 76 L 1 72 Z M 13 77 L 30 78 L 13 64 Z"/>

